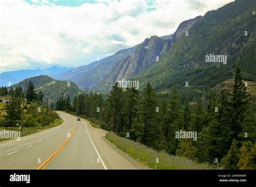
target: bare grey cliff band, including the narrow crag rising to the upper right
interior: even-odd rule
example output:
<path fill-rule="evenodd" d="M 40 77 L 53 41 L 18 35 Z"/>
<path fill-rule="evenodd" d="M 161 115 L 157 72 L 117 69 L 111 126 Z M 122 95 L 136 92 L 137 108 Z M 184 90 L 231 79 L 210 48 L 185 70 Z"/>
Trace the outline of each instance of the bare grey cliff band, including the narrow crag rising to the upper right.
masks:
<path fill-rule="evenodd" d="M 159 61 L 161 56 L 178 41 L 181 35 L 201 18 L 201 16 L 198 16 L 194 19 L 183 21 L 174 34 L 164 37 L 152 36 L 146 38 L 131 55 L 125 56 L 122 60 L 114 64 L 111 72 L 104 80 L 100 81 L 92 89 L 109 90 L 114 82 L 118 80 L 130 80 L 134 76 L 143 74 L 154 63 Z"/>

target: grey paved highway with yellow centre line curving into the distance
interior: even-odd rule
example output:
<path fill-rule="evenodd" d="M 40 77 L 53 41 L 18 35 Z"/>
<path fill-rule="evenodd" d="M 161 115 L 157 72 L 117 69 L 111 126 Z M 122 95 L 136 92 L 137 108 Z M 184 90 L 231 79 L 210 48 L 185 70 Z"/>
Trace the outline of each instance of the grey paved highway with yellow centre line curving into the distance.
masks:
<path fill-rule="evenodd" d="M 58 112 L 63 124 L 0 142 L 0 169 L 147 169 L 86 120 Z"/>

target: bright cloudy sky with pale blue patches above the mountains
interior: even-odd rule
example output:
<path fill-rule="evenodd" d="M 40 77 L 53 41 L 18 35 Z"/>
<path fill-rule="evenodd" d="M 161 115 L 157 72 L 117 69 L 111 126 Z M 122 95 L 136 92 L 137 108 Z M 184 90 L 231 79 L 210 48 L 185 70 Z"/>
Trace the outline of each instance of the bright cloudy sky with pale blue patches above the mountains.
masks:
<path fill-rule="evenodd" d="M 78 67 L 233 0 L 1 0 L 1 72 Z"/>

